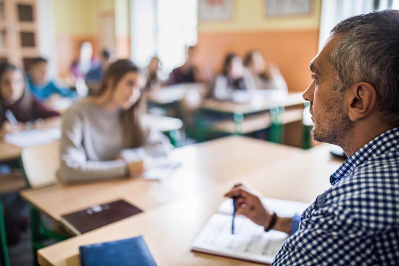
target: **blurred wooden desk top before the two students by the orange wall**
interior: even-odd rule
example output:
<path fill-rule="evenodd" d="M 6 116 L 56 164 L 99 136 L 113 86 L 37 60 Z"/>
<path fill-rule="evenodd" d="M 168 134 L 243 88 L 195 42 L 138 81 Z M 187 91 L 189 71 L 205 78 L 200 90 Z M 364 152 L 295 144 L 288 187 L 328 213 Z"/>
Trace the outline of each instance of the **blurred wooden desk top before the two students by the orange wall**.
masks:
<path fill-rule="evenodd" d="M 302 97 L 302 93 L 291 93 L 286 97 L 273 99 L 264 99 L 261 97 L 254 97 L 249 103 L 233 103 L 233 102 L 221 102 L 214 99 L 205 99 L 202 102 L 201 108 L 216 112 L 223 113 L 256 113 L 267 111 L 274 106 L 293 106 L 303 104 L 305 100 Z"/>

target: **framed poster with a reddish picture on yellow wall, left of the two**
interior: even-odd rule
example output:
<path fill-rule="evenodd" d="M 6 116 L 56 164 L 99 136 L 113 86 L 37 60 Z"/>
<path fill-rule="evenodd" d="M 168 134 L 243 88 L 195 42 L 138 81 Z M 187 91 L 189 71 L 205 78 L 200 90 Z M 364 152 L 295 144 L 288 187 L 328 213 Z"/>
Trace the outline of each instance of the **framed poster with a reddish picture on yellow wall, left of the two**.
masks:
<path fill-rule="evenodd" d="M 202 21 L 229 20 L 233 17 L 234 0 L 199 0 L 198 12 Z"/>

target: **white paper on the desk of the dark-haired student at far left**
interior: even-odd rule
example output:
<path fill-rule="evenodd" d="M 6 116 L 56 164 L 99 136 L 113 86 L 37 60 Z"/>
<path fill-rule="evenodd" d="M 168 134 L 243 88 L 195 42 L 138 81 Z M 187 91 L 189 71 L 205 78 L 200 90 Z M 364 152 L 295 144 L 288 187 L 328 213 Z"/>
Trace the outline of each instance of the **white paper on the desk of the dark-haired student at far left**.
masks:
<path fill-rule="evenodd" d="M 59 128 L 42 130 L 30 129 L 18 131 L 16 133 L 8 133 L 4 136 L 4 141 L 18 147 L 29 147 L 50 143 L 58 140 L 60 137 L 61 130 Z"/>

